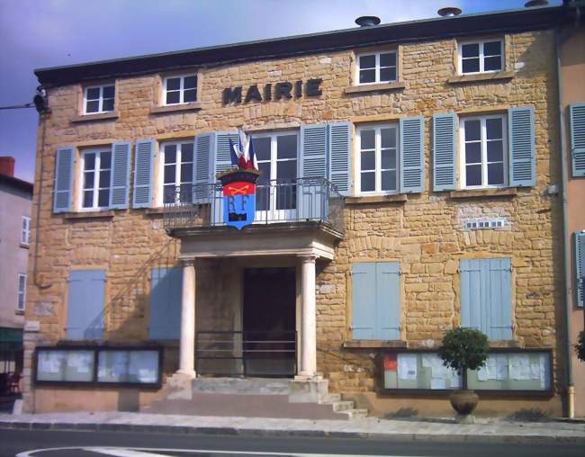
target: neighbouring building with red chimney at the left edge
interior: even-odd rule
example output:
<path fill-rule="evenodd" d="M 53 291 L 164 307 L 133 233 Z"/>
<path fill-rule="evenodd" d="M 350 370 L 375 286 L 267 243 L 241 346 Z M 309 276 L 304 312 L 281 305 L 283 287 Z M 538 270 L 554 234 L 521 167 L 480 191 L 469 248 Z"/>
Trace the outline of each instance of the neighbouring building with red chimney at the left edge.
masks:
<path fill-rule="evenodd" d="M 23 372 L 31 211 L 32 184 L 14 176 L 14 157 L 0 157 L 0 395 Z"/>

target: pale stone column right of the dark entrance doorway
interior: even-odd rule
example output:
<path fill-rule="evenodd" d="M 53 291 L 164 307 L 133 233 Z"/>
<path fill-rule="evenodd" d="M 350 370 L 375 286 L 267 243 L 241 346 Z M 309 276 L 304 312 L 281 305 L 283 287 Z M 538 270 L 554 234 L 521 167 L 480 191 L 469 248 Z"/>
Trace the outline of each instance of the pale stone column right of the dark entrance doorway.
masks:
<path fill-rule="evenodd" d="M 315 306 L 316 255 L 302 256 L 302 345 L 301 376 L 317 374 L 317 309 Z"/>

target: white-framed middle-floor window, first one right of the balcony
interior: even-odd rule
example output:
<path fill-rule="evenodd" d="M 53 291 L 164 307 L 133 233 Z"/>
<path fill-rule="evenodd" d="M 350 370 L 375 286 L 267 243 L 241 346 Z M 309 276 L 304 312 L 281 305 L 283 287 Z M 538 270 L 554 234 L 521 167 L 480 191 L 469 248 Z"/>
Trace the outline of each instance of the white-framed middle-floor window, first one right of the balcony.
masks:
<path fill-rule="evenodd" d="M 398 126 L 358 129 L 359 193 L 398 192 Z"/>

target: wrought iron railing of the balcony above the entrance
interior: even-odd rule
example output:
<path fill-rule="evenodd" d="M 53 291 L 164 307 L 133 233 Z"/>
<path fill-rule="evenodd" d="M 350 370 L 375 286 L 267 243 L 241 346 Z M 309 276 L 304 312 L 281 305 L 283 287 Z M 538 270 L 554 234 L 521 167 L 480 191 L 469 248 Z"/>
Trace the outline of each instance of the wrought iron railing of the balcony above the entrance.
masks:
<path fill-rule="evenodd" d="M 218 184 L 166 187 L 166 229 L 224 226 L 223 193 Z M 254 224 L 322 222 L 344 231 L 344 199 L 325 178 L 259 182 Z"/>

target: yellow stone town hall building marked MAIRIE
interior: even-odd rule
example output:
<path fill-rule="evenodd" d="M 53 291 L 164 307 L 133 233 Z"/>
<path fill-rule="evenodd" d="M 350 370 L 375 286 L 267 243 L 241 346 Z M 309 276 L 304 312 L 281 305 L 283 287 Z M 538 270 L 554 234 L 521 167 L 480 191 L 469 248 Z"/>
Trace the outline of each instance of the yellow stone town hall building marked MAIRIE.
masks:
<path fill-rule="evenodd" d="M 37 70 L 25 408 L 138 408 L 238 375 L 376 415 L 448 414 L 463 385 L 479 414 L 563 414 L 571 10 Z M 238 130 L 262 172 L 241 230 L 216 181 Z M 460 326 L 492 352 L 457 376 L 437 347 Z"/>

